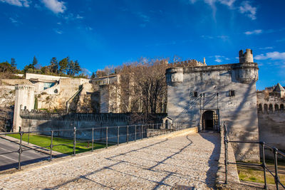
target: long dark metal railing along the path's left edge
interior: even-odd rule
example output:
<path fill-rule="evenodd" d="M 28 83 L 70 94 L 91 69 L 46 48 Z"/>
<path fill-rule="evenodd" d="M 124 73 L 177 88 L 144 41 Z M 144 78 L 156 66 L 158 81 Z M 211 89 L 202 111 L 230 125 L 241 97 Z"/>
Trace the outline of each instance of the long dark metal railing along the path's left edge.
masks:
<path fill-rule="evenodd" d="M 37 150 L 37 149 L 43 149 L 43 148 L 49 148 L 49 161 L 53 160 L 53 147 L 58 147 L 61 145 L 68 145 L 68 144 L 73 144 L 73 156 L 76 156 L 76 144 L 78 143 L 82 143 L 82 142 L 91 142 L 92 147 L 91 147 L 91 152 L 93 152 L 93 150 L 95 149 L 95 142 L 100 142 L 103 143 L 105 141 L 105 147 L 108 148 L 108 145 L 114 145 L 114 144 L 122 144 L 123 142 L 120 142 L 120 137 L 125 137 L 126 138 L 126 143 L 130 142 L 130 141 L 136 141 L 138 139 L 145 139 L 148 137 L 155 137 L 158 135 L 162 135 L 162 134 L 166 134 L 169 132 L 173 132 L 173 131 L 177 131 L 177 130 L 184 130 L 186 128 L 190 128 L 192 127 L 191 125 L 179 125 L 180 123 L 174 123 L 175 125 L 178 124 L 178 127 L 175 127 L 175 125 L 171 125 L 170 129 L 165 129 L 163 127 L 165 127 L 165 125 L 163 123 L 157 123 L 157 124 L 143 124 L 143 125 L 125 125 L 125 126 L 111 126 L 111 127 L 90 127 L 90 128 L 76 128 L 74 127 L 71 130 L 41 130 L 41 131 L 28 131 L 28 132 L 23 132 L 21 131 L 21 127 L 19 127 L 19 132 L 1 132 L 0 135 L 6 135 L 6 134 L 20 134 L 20 142 L 19 142 L 19 149 L 17 151 L 14 152 L 18 152 L 19 153 L 19 160 L 18 160 L 18 167 L 17 169 L 21 169 L 21 154 L 24 151 L 27 150 Z M 123 127 L 126 128 L 126 134 L 120 134 L 120 129 L 122 129 Z M 108 130 L 110 129 L 117 129 L 118 133 L 117 135 L 113 135 L 113 136 L 109 136 Z M 134 129 L 135 132 L 130 132 L 130 129 Z M 84 139 L 84 140 L 77 140 L 76 139 L 76 132 L 77 131 L 87 131 L 87 132 L 92 132 L 92 139 Z M 96 130 L 105 130 L 103 132 L 105 132 L 105 137 L 100 137 L 99 139 L 95 138 L 94 132 Z M 148 131 L 149 130 L 149 131 Z M 156 130 L 156 131 L 155 131 Z M 63 144 L 54 144 L 53 142 L 53 137 L 55 136 L 54 133 L 55 132 L 66 132 L 66 131 L 71 131 L 73 132 L 73 137 L 72 138 L 68 138 L 68 139 L 72 139 L 73 142 L 68 142 L 68 143 L 63 143 Z M 48 135 L 49 137 L 51 137 L 51 142 L 50 145 L 45 146 L 45 147 L 35 147 L 35 148 L 31 148 L 31 147 L 26 147 L 23 144 L 23 135 L 24 134 L 28 134 L 28 143 L 29 143 L 29 134 L 33 134 L 33 133 L 37 133 L 37 134 L 44 134 L 44 133 L 48 133 L 50 135 Z M 135 135 L 135 137 L 132 139 L 130 137 L 133 137 L 133 135 Z M 114 139 L 117 138 L 117 142 L 109 142 L 110 139 Z M 23 146 L 25 146 L 26 148 L 24 149 Z M 1 154 L 9 154 L 9 153 L 14 153 L 14 152 L 4 152 Z"/>

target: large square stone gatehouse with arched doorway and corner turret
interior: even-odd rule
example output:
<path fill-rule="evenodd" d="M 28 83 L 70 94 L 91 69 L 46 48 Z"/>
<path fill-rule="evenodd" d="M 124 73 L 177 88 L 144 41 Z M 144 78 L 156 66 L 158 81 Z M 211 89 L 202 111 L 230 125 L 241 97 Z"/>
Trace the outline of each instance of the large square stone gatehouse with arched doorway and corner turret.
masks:
<path fill-rule="evenodd" d="M 219 130 L 225 124 L 229 139 L 259 141 L 256 82 L 252 50 L 239 51 L 240 63 L 169 68 L 167 113 L 173 122 L 190 122 L 199 130 Z M 258 160 L 259 147 L 233 144 L 237 160 Z"/>

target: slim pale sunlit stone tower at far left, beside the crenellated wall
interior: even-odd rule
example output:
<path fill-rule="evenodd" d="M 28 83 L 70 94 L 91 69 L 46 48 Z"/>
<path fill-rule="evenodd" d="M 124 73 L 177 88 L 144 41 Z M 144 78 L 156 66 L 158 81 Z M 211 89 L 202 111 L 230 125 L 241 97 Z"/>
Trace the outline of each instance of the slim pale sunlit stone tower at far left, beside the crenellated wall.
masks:
<path fill-rule="evenodd" d="M 20 111 L 33 110 L 35 104 L 35 87 L 32 85 L 15 85 L 16 97 L 14 107 L 13 132 L 19 132 L 21 127 Z"/>

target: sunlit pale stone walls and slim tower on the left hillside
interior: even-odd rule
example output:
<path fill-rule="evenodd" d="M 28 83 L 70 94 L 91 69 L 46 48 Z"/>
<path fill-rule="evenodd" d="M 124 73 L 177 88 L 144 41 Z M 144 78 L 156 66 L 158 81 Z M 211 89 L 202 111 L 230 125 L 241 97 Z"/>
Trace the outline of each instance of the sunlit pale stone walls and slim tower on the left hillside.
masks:
<path fill-rule="evenodd" d="M 14 132 L 21 126 L 20 110 L 61 110 L 83 113 L 119 113 L 118 75 L 95 78 L 66 78 L 26 74 L 26 79 L 6 81 L 15 85 Z M 25 82 L 25 83 L 24 83 Z M 26 85 L 17 85 L 24 83 Z"/>

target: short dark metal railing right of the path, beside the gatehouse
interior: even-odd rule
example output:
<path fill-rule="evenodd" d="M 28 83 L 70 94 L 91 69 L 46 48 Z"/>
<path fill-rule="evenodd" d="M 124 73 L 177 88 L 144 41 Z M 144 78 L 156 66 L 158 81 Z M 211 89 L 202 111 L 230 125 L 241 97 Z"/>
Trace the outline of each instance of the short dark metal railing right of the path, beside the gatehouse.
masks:
<path fill-rule="evenodd" d="M 229 162 L 227 157 L 227 150 L 228 150 L 228 143 L 247 143 L 247 144 L 259 144 L 261 149 L 261 156 L 262 156 L 262 162 L 261 164 L 254 164 L 254 163 L 243 163 L 243 162 Z M 265 147 L 270 149 L 273 156 L 274 156 L 274 174 L 272 171 L 269 170 L 269 168 L 266 166 L 266 159 L 265 159 Z M 244 165 L 244 166 L 253 166 L 253 167 L 261 167 L 263 169 L 264 173 L 264 189 L 268 189 L 267 182 L 266 182 L 266 171 L 271 174 L 271 176 L 274 177 L 274 182 L 276 185 L 276 189 L 279 189 L 279 185 L 281 185 L 284 189 L 284 184 L 281 183 L 279 180 L 279 174 L 278 174 L 278 159 L 277 155 L 281 155 L 281 157 L 285 158 L 284 152 L 279 151 L 276 147 L 271 147 L 266 142 L 246 142 L 246 141 L 234 141 L 227 139 L 227 127 L 224 125 L 224 166 L 225 166 L 225 181 L 224 183 L 227 184 L 227 165 L 229 164 L 237 164 L 237 165 Z"/>

